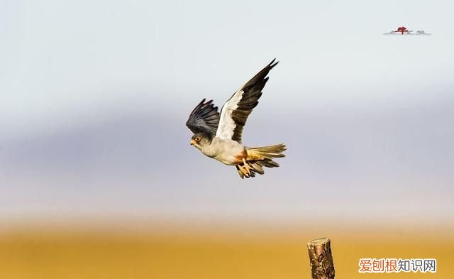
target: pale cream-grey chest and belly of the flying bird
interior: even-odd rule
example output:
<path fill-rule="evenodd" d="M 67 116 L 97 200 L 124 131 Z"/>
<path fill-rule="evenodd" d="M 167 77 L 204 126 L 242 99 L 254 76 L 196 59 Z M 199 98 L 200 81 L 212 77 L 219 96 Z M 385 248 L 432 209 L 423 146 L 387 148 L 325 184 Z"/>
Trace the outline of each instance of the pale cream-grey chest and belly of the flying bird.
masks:
<path fill-rule="evenodd" d="M 241 160 L 238 156 L 245 153 L 245 148 L 238 141 L 214 138 L 209 146 L 202 147 L 200 151 L 226 165 L 237 165 Z"/>

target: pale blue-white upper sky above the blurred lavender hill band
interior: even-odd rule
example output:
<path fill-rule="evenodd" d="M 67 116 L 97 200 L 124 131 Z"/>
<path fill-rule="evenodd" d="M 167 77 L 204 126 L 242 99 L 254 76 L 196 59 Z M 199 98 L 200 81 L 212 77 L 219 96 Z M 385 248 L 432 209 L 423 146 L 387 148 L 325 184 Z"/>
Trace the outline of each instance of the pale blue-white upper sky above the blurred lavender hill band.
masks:
<path fill-rule="evenodd" d="M 269 86 L 279 94 L 267 100 L 277 107 L 405 105 L 426 102 L 429 84 L 452 85 L 450 1 L 0 3 L 6 131 L 116 114 L 125 103 L 157 112 L 175 97 L 178 109 L 201 97 L 222 103 L 274 57 Z M 433 35 L 382 35 L 398 26 Z"/>

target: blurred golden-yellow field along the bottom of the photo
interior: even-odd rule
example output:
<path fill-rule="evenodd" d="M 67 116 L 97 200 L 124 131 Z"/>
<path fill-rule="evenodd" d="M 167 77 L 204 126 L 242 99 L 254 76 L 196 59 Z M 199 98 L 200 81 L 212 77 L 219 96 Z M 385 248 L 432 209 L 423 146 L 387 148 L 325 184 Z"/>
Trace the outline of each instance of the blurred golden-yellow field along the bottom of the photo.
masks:
<path fill-rule="evenodd" d="M 331 238 L 336 278 L 453 278 L 451 229 L 208 227 L 15 226 L 0 232 L 0 278 L 310 278 L 306 243 L 321 236 Z M 436 258 L 438 270 L 362 274 L 359 258 Z"/>

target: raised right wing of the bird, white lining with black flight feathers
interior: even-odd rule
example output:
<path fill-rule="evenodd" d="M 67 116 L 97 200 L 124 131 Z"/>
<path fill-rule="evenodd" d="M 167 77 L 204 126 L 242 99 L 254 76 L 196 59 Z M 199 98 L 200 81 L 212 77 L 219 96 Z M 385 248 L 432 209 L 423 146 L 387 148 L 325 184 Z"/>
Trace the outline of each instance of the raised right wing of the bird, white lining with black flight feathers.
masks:
<path fill-rule="evenodd" d="M 223 105 L 216 137 L 231 138 L 233 141 L 241 143 L 243 127 L 249 114 L 258 105 L 258 99 L 262 96 L 262 89 L 268 81 L 268 72 L 278 63 L 275 60 L 273 59 L 255 77 L 238 89 Z"/>

